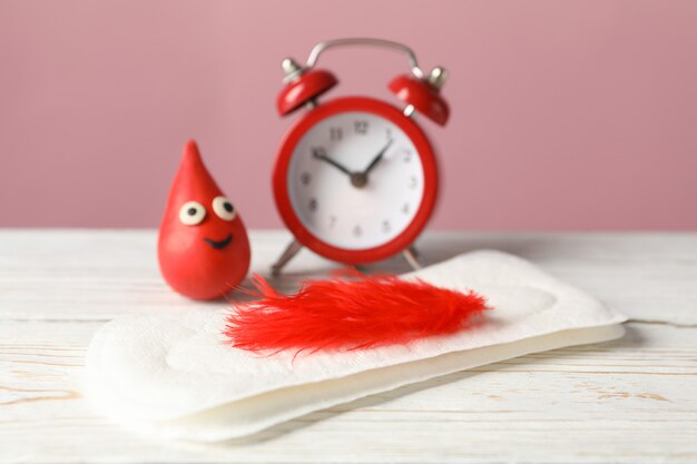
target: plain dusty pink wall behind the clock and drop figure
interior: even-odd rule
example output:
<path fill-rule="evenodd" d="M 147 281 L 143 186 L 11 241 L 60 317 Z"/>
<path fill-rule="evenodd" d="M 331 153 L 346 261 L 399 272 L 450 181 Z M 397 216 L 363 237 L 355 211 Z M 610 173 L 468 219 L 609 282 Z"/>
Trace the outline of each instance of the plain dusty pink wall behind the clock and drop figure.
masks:
<path fill-rule="evenodd" d="M 291 120 L 281 59 L 324 39 L 451 71 L 436 228 L 697 228 L 697 1 L 0 0 L 0 226 L 156 226 L 198 140 L 252 227 Z M 399 55 L 322 58 L 391 101 Z"/>

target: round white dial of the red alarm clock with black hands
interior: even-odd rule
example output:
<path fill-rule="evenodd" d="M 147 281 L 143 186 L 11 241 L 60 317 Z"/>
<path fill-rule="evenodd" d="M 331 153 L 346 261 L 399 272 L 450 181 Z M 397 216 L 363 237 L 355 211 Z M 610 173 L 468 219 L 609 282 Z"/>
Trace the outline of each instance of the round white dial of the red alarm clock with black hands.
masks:
<path fill-rule="evenodd" d="M 412 140 L 373 113 L 331 116 L 296 145 L 288 195 L 315 237 L 344 249 L 369 249 L 397 237 L 423 199 L 423 166 Z"/>

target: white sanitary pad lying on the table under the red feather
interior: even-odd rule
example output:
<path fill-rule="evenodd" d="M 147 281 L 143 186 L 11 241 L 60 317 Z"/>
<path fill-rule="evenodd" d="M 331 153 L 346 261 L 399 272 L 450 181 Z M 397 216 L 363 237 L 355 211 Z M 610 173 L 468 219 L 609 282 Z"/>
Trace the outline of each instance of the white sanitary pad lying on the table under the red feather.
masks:
<path fill-rule="evenodd" d="M 473 289 L 494 309 L 455 335 L 297 357 L 232 348 L 220 335 L 225 312 L 125 317 L 90 344 L 89 396 L 131 428 L 213 442 L 435 376 L 624 333 L 621 314 L 502 253 L 470 253 L 403 277 Z"/>

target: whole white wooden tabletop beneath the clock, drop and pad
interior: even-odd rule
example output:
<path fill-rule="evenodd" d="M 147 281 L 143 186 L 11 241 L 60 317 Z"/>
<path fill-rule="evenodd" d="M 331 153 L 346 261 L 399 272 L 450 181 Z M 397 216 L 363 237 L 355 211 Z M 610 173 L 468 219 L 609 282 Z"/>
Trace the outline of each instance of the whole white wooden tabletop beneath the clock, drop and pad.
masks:
<path fill-rule="evenodd" d="M 287 239 L 254 233 L 253 269 L 267 274 Z M 202 305 L 165 287 L 155 241 L 151 230 L 0 230 L 0 462 L 697 462 L 697 234 L 431 234 L 420 241 L 429 261 L 514 253 L 629 315 L 626 337 L 206 446 L 132 435 L 80 393 L 87 346 L 105 322 Z M 302 251 L 282 287 L 332 267 Z M 401 259 L 380 268 L 406 269 Z"/>

